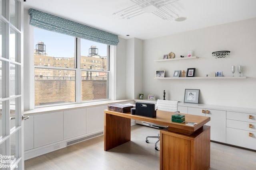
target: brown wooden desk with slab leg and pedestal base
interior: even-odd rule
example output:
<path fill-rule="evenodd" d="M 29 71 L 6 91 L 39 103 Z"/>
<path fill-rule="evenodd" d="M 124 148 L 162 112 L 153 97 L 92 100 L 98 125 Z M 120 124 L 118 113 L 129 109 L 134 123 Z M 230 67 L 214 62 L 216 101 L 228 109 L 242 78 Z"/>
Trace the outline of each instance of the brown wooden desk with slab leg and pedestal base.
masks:
<path fill-rule="evenodd" d="M 156 117 L 151 118 L 151 117 L 145 117 L 140 115 L 132 115 L 130 113 L 119 113 L 115 111 L 105 110 L 104 111 L 104 116 L 105 116 L 104 150 L 112 149 L 114 147 L 117 147 L 119 145 L 122 145 L 123 143 L 130 141 L 131 140 L 131 120 L 130 119 L 137 119 L 141 121 L 147 121 L 150 123 L 156 123 L 159 125 L 168 126 L 168 128 L 164 129 L 163 131 L 160 131 L 160 134 L 161 134 L 160 135 L 160 169 L 161 170 L 166 169 L 166 167 L 168 170 L 177 169 L 177 167 L 179 170 L 182 170 L 182 168 L 180 169 L 179 166 L 175 166 L 175 164 L 180 164 L 180 163 L 182 164 L 190 163 L 190 166 L 184 166 L 184 167 L 186 168 L 190 167 L 191 170 L 194 169 L 194 167 L 196 167 L 197 170 L 209 169 L 210 168 L 210 127 L 207 127 L 207 126 L 204 127 L 204 124 L 210 121 L 210 117 L 184 114 L 186 115 L 185 122 L 175 123 L 175 122 L 172 122 L 171 120 L 171 117 L 173 114 L 177 114 L 177 113 L 157 110 Z M 185 125 L 188 122 L 195 122 L 198 124 L 194 126 Z M 167 133 L 167 135 L 163 135 L 164 133 Z M 173 137 L 175 137 L 175 139 Z M 182 141 L 184 138 L 193 139 L 193 137 L 196 140 L 190 140 L 187 143 L 182 143 L 180 144 L 180 147 L 178 149 L 180 150 L 181 148 L 184 148 L 184 150 L 186 151 L 182 154 L 190 155 L 191 161 L 190 162 L 188 162 L 188 160 L 179 160 L 178 162 L 172 161 L 172 165 L 169 165 L 170 159 L 168 157 L 174 156 L 174 155 L 176 156 L 177 149 L 175 150 L 175 152 L 173 152 L 173 150 L 169 149 L 167 146 L 174 145 L 173 140 L 175 140 L 175 145 L 176 145 L 176 142 L 180 143 L 179 141 Z M 190 145 L 188 145 L 188 143 Z M 199 147 L 198 143 L 203 144 L 201 148 L 198 148 Z M 163 152 L 162 146 L 165 146 L 164 152 Z M 196 152 L 194 153 L 193 149 L 194 150 L 200 149 L 201 150 L 200 155 L 196 154 Z M 168 151 L 166 152 L 166 150 Z M 192 150 L 193 150 L 193 153 L 191 154 L 190 152 L 192 152 Z M 183 152 L 183 151 L 180 150 L 180 152 Z M 192 156 L 195 156 L 195 154 L 196 156 L 199 156 L 199 157 L 197 157 L 196 159 L 192 159 Z M 198 163 L 194 162 L 194 161 L 199 161 L 200 158 L 202 157 L 206 157 L 205 159 L 203 159 L 205 160 L 205 163 L 203 166 L 200 166 L 201 161 Z M 188 158 L 188 156 L 186 158 Z M 191 164 L 193 165 L 196 164 L 198 166 L 191 166 Z M 187 170 L 186 168 L 184 168 L 184 170 Z"/>

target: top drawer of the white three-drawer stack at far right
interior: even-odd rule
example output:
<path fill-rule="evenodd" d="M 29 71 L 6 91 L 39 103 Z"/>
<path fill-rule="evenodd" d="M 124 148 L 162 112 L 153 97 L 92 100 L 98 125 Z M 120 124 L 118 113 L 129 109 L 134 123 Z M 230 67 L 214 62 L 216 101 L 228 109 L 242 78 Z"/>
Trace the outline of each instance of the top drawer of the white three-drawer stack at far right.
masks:
<path fill-rule="evenodd" d="M 256 114 L 227 111 L 227 119 L 256 123 Z"/>

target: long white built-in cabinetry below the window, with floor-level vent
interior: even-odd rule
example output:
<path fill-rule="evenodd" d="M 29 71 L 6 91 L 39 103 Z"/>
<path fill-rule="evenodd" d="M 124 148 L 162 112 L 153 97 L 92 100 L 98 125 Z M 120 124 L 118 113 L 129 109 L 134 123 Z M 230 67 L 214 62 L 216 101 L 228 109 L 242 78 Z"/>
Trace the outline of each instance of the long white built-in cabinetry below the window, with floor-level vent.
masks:
<path fill-rule="evenodd" d="M 29 113 L 30 118 L 24 121 L 25 160 L 103 135 L 108 104 L 66 109 L 63 106 L 59 111 Z"/>

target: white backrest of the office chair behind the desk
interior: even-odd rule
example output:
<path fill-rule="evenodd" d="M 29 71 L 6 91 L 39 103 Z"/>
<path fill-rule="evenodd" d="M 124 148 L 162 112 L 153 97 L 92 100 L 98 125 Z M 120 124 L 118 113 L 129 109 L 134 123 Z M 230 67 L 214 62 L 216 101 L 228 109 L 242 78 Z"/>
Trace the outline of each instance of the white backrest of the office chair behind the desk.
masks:
<path fill-rule="evenodd" d="M 172 100 L 160 100 L 158 99 L 156 102 L 155 110 L 162 110 L 162 111 L 178 111 L 178 101 Z"/>

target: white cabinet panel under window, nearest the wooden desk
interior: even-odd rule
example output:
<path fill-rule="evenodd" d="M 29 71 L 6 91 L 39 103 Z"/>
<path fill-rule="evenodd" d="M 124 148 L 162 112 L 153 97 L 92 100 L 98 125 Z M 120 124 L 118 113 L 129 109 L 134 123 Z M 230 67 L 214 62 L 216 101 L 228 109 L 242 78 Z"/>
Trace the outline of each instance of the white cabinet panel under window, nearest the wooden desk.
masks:
<path fill-rule="evenodd" d="M 86 109 L 86 133 L 104 130 L 104 110 L 108 106 L 89 107 Z"/>

